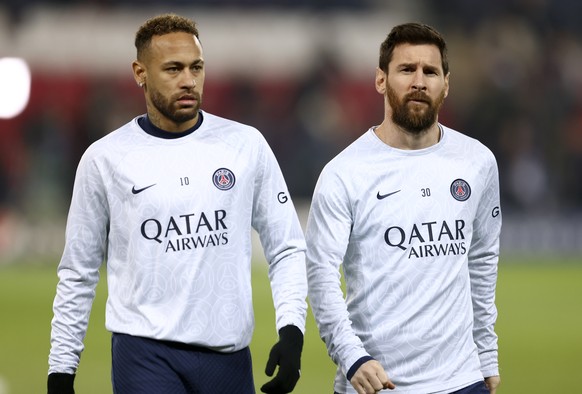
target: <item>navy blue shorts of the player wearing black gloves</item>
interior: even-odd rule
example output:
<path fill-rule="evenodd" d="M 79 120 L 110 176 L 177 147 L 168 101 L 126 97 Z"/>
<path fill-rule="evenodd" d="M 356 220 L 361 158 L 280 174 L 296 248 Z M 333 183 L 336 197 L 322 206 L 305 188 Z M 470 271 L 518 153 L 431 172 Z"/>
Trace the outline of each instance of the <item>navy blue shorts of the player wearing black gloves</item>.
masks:
<path fill-rule="evenodd" d="M 234 353 L 125 334 L 111 338 L 118 394 L 254 394 L 249 348 Z"/>

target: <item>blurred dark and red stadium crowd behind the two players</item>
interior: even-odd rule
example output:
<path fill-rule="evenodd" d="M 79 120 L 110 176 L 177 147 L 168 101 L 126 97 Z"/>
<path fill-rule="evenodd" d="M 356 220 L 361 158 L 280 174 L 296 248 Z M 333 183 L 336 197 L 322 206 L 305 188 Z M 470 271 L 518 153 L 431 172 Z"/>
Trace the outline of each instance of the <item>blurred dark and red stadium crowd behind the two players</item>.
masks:
<path fill-rule="evenodd" d="M 2 7 L 17 25 L 27 7 L 37 3 L 9 0 Z M 93 3 L 113 13 L 136 2 L 53 3 L 61 7 Z M 164 5 L 185 3 L 173 0 Z M 393 4 L 373 0 L 196 3 L 256 9 L 268 3 L 283 11 L 294 7 L 320 15 L 338 9 L 389 13 Z M 419 3 L 423 12 L 417 19 L 442 31 L 454 52 L 451 84 L 455 88 L 440 120 L 481 140 L 495 153 L 505 213 L 582 211 L 582 25 L 577 21 L 582 3 Z M 203 108 L 261 130 L 296 198 L 310 198 L 324 163 L 382 119 L 372 79 L 352 78 L 330 52 L 322 53 L 311 72 L 301 77 L 272 80 L 257 75 L 208 80 L 207 85 L 212 94 L 205 96 Z M 25 217 L 66 213 L 81 153 L 128 114 L 143 112 L 138 93 L 129 72 L 125 79 L 33 76 L 29 107 L 17 118 L 0 119 L 0 221 L 1 212 Z"/>

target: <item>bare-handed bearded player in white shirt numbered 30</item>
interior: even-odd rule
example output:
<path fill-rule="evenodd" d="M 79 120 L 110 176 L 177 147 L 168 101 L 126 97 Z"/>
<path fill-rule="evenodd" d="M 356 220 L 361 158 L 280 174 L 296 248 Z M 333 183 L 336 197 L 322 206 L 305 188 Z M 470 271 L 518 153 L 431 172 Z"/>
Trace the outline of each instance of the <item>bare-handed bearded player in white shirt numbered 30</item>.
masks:
<path fill-rule="evenodd" d="M 433 28 L 392 29 L 375 87 L 384 120 L 325 166 L 306 230 L 335 392 L 495 393 L 496 160 L 438 122 L 449 66 Z"/>

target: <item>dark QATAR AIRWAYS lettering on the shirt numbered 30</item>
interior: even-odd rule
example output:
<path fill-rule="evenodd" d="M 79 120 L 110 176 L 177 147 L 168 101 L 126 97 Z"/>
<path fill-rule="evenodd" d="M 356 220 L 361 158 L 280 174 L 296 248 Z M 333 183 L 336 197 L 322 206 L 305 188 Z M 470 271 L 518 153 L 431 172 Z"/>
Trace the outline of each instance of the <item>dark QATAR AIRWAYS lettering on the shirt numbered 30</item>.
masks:
<path fill-rule="evenodd" d="M 467 253 L 464 230 L 462 219 L 415 223 L 410 228 L 391 226 L 384 232 L 384 241 L 406 251 L 409 259 L 461 255 Z"/>

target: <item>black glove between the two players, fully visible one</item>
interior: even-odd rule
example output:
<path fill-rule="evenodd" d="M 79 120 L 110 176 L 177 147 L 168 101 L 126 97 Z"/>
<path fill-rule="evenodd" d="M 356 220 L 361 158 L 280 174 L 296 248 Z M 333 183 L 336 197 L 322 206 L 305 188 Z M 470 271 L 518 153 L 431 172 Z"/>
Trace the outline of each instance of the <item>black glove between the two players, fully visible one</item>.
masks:
<path fill-rule="evenodd" d="M 285 394 L 295 388 L 301 376 L 301 350 L 303 349 L 303 333 L 295 326 L 289 325 L 279 330 L 279 342 L 269 353 L 269 361 L 265 373 L 273 376 L 279 365 L 279 372 L 271 381 L 261 387 L 263 393 Z"/>

